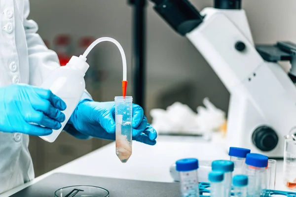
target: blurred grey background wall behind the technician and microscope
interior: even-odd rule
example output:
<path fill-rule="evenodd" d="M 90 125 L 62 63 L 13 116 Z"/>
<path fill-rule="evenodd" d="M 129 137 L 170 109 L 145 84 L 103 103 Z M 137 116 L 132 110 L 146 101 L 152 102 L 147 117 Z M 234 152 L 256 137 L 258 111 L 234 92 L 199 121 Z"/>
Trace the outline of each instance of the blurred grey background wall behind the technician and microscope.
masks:
<path fill-rule="evenodd" d="M 128 62 L 128 95 L 132 95 L 132 8 L 127 0 L 30 0 L 30 19 L 39 25 L 38 33 L 53 45 L 58 34 L 69 34 L 73 54 L 79 51 L 77 40 L 82 36 L 111 36 L 123 46 Z M 212 0 L 191 0 L 199 9 L 212 6 Z M 296 42 L 295 0 L 243 0 L 256 43 L 277 40 Z M 185 38 L 175 33 L 152 9 L 147 7 L 147 72 L 146 115 L 149 110 L 166 108 L 175 101 L 196 111 L 208 97 L 227 112 L 229 93 L 200 53 Z M 103 70 L 97 83 L 86 87 L 97 101 L 113 100 L 121 94 L 122 63 L 111 43 L 100 43 L 94 66 Z M 95 150 L 109 141 L 78 140 L 63 133 L 50 144 L 31 137 L 30 150 L 36 175 Z M 115 153 L 110 153 L 114 154 Z M 99 162 L 99 161 L 98 161 Z"/>

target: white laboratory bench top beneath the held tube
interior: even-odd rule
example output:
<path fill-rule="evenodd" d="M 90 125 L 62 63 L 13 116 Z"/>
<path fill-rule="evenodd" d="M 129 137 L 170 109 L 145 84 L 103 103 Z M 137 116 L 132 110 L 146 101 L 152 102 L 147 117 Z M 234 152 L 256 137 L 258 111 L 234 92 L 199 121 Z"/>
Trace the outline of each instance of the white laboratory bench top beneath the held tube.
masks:
<path fill-rule="evenodd" d="M 199 160 L 229 159 L 222 148 L 223 140 L 215 134 L 211 141 L 194 137 L 159 136 L 155 146 L 133 142 L 133 154 L 126 164 L 115 155 L 114 142 L 82 156 L 68 164 L 43 174 L 33 181 L 14 188 L 0 197 L 8 197 L 18 191 L 56 173 L 133 179 L 155 182 L 172 182 L 169 167 L 176 160 L 195 157 Z M 276 190 L 287 191 L 283 185 L 283 162 L 277 162 Z M 81 183 L 83 184 L 83 183 Z"/>

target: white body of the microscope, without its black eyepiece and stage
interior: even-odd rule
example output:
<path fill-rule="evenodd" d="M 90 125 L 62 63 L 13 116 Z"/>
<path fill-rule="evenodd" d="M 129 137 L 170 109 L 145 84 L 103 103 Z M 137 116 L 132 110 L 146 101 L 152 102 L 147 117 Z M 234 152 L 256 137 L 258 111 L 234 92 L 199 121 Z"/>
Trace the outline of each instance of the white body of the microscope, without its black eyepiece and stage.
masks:
<path fill-rule="evenodd" d="M 270 157 L 283 157 L 284 135 L 296 128 L 294 83 L 280 65 L 261 58 L 244 10 L 205 8 L 201 14 L 205 15 L 203 23 L 186 36 L 231 94 L 227 149 L 245 147 Z M 244 50 L 235 48 L 238 42 L 245 44 Z M 254 139 L 254 131 L 262 126 L 273 129 L 278 137 L 271 151 L 264 147 L 260 150 L 254 143 L 257 140 L 264 146 L 275 141 L 271 132 Z"/>

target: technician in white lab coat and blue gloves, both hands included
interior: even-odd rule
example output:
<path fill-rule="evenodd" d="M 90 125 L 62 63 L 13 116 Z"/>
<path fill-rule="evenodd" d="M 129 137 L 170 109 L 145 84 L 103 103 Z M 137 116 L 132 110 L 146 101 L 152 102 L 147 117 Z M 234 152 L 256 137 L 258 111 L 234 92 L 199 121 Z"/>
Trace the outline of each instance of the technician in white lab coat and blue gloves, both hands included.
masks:
<path fill-rule="evenodd" d="M 37 24 L 27 20 L 29 9 L 29 0 L 0 0 L 0 193 L 34 178 L 29 135 L 50 134 L 65 120 L 66 104 L 38 88 L 60 65 L 36 33 Z M 113 102 L 95 102 L 85 91 L 65 131 L 80 139 L 114 139 L 113 114 Z M 156 136 L 134 104 L 134 140 L 154 145 Z"/>

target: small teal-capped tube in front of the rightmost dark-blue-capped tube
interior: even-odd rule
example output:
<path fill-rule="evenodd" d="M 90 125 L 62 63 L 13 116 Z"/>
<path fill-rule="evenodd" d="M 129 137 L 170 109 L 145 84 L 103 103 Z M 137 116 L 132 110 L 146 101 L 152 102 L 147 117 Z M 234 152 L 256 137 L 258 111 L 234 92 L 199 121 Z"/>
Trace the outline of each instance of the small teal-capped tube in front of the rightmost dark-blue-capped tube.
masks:
<path fill-rule="evenodd" d="M 232 178 L 234 197 L 247 197 L 248 176 L 235 175 Z"/>

